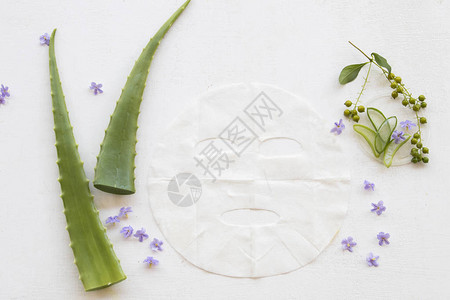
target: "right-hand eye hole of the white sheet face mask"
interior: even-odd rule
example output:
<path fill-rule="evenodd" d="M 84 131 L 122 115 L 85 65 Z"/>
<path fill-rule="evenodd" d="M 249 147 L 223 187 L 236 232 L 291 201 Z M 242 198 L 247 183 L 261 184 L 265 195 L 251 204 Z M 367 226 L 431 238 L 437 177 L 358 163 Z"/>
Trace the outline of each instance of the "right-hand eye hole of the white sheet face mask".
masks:
<path fill-rule="evenodd" d="M 259 152 L 264 156 L 295 156 L 302 151 L 300 142 L 287 137 L 270 138 L 259 144 Z"/>

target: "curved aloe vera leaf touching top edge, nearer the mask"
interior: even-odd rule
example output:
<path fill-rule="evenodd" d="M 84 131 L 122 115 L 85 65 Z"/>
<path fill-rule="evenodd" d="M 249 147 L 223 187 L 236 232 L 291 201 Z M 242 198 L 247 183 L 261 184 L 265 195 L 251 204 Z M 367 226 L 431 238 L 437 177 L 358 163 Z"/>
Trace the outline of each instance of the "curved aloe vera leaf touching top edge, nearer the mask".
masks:
<path fill-rule="evenodd" d="M 99 190 L 121 195 L 136 192 L 136 133 L 145 82 L 156 49 L 189 2 L 186 1 L 148 42 L 128 76 L 97 156 L 94 186 Z"/>

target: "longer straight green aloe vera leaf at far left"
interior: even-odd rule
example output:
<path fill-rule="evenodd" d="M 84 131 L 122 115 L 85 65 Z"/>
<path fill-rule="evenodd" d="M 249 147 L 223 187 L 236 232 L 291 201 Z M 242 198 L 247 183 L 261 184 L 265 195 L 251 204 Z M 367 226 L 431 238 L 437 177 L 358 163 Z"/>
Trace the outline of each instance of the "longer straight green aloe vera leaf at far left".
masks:
<path fill-rule="evenodd" d="M 66 229 L 70 236 L 74 262 L 78 267 L 84 289 L 92 291 L 108 287 L 127 277 L 99 219 L 94 197 L 89 190 L 89 180 L 86 178 L 83 162 L 78 153 L 56 65 L 55 33 L 56 29 L 53 30 L 50 39 L 49 65 L 55 146 L 58 154 L 58 181 L 61 185 Z"/>

